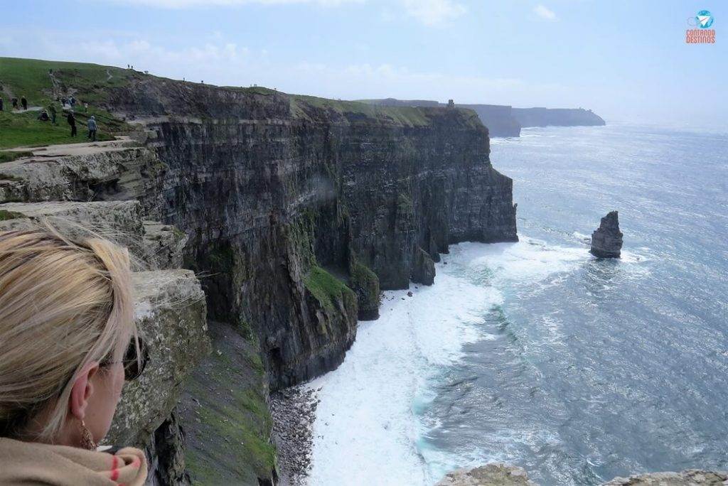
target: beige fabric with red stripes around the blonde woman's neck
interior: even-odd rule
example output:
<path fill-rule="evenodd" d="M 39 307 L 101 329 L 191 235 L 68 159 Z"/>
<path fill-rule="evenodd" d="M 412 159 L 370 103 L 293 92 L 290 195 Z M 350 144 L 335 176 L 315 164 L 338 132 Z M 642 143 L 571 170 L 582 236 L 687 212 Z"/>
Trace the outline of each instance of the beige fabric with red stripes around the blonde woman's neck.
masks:
<path fill-rule="evenodd" d="M 133 447 L 113 451 L 0 437 L 0 486 L 143 486 L 144 453 Z"/>

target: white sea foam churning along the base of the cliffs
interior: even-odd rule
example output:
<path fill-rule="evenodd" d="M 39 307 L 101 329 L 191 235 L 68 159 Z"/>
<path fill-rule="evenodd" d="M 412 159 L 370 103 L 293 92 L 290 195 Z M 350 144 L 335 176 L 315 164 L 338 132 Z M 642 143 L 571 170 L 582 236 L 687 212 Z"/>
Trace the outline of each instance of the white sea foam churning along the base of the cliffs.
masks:
<path fill-rule="evenodd" d="M 419 413 L 432 384 L 456 365 L 465 343 L 497 339 L 484 317 L 513 282 L 552 282 L 590 258 L 583 247 L 555 247 L 521 236 L 515 244 L 463 243 L 438 263 L 435 286 L 386 292 L 377 321 L 363 322 L 339 369 L 321 387 L 309 486 L 431 485 L 456 463 L 422 437 L 438 423 Z M 448 264 L 446 265 L 445 262 Z M 558 338 L 558 320 L 545 319 Z"/>

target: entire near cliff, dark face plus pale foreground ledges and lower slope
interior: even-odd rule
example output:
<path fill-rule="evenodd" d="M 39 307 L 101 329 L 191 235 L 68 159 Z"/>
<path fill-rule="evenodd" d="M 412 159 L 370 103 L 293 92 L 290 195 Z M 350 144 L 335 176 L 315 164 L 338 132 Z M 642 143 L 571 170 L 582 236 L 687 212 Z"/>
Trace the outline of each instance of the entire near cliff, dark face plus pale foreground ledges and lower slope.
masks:
<path fill-rule="evenodd" d="M 53 67 L 36 63 L 38 79 Z M 22 149 L 3 164 L 0 214 L 22 220 L 52 212 L 110 233 L 122 227 L 125 243 L 148 262 L 182 261 L 202 276 L 213 353 L 192 371 L 208 336 L 179 339 L 183 331 L 197 335 L 199 319 L 159 334 L 155 349 L 169 359 L 152 368 L 157 381 L 125 392 L 131 402 L 113 436 L 149 447 L 160 485 L 186 484 L 185 462 L 193 481 L 271 484 L 269 387 L 339 365 L 357 318 L 376 318 L 380 289 L 436 281 L 432 263 L 449 244 L 517 239 L 513 183 L 491 166 L 488 130 L 472 111 L 336 102 L 123 70 L 91 83 L 83 72 L 54 69 L 47 94 L 84 100 L 86 90 L 95 110 L 134 131 Z M 187 361 L 179 354 L 186 348 L 194 349 Z M 189 375 L 181 408 L 173 409 Z M 191 437 L 186 453 L 181 422 Z M 234 458 L 248 459 L 230 463 L 227 476 L 215 468 Z"/>

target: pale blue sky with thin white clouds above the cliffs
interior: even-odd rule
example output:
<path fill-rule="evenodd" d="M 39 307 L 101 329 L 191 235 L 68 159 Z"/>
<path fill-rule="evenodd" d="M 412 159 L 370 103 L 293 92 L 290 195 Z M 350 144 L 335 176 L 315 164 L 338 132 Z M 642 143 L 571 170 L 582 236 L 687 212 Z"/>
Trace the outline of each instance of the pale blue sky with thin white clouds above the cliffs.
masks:
<path fill-rule="evenodd" d="M 3 3 L 0 56 L 347 100 L 582 107 L 607 122 L 728 128 L 724 0 Z M 687 44 L 705 9 L 716 44 Z"/>

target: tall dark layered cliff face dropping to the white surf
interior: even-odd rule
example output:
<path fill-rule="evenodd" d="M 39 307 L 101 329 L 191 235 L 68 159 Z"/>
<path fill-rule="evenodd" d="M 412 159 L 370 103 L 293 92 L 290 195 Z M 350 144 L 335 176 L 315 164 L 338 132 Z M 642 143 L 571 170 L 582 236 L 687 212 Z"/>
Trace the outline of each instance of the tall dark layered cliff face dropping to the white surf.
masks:
<path fill-rule="evenodd" d="M 470 111 L 151 77 L 110 105 L 154 132 L 165 169 L 143 206 L 189 235 L 210 316 L 258 335 L 273 388 L 339 365 L 379 284 L 406 287 L 454 242 L 516 239 L 512 181 Z"/>

